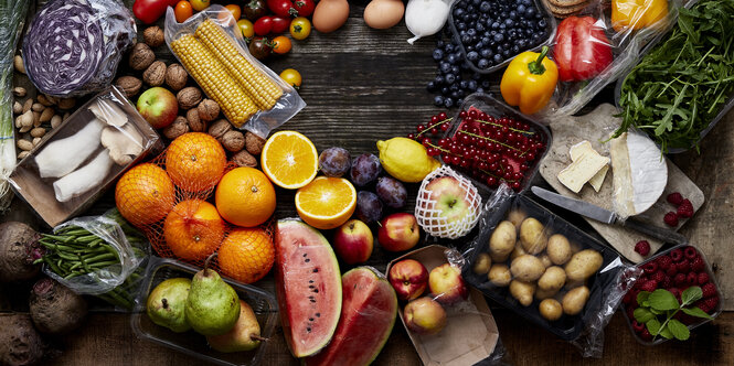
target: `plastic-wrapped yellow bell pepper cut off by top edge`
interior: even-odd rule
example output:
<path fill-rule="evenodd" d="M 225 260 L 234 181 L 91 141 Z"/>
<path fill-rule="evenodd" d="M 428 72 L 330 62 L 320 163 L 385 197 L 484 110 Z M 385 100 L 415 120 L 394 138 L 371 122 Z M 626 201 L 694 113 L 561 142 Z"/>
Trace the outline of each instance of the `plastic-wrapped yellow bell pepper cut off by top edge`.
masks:
<path fill-rule="evenodd" d="M 611 26 L 620 32 L 650 26 L 668 15 L 668 0 L 613 0 Z"/>

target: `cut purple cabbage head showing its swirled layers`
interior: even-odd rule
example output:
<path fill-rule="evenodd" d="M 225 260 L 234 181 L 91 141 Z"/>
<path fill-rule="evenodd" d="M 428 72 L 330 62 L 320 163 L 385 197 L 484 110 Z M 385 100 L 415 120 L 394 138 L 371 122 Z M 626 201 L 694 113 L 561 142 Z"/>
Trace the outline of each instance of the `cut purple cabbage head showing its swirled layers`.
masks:
<path fill-rule="evenodd" d="M 23 39 L 28 77 L 43 94 L 74 97 L 111 84 L 136 40 L 135 20 L 115 0 L 52 0 Z"/>

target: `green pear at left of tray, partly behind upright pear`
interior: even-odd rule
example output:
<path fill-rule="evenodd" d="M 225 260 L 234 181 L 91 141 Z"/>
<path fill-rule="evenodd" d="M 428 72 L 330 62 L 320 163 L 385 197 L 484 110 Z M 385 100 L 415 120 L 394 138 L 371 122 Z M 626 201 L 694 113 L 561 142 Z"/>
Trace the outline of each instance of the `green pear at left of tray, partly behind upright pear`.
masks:
<path fill-rule="evenodd" d="M 148 317 L 177 333 L 190 330 L 184 311 L 190 288 L 191 280 L 188 278 L 172 278 L 160 282 L 148 295 Z"/>

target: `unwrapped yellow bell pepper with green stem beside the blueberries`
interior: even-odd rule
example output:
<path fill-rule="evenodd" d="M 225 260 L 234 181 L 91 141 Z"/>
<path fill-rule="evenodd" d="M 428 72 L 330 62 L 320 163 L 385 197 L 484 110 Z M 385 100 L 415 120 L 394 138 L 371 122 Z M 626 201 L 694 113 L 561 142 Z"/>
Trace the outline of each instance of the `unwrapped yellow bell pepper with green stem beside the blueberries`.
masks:
<path fill-rule="evenodd" d="M 543 46 L 541 53 L 523 52 L 508 65 L 500 92 L 510 106 L 519 106 L 520 111 L 532 115 L 545 107 L 559 82 L 559 68 L 545 57 L 549 47 Z"/>

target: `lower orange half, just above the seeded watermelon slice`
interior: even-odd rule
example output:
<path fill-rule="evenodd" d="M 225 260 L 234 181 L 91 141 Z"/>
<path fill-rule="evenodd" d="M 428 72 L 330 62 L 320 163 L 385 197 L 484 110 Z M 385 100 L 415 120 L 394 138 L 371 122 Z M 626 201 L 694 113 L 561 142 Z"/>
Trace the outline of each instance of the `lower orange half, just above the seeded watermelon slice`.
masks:
<path fill-rule="evenodd" d="M 298 216 L 320 229 L 344 224 L 357 207 L 357 190 L 342 177 L 319 176 L 296 193 Z"/>

